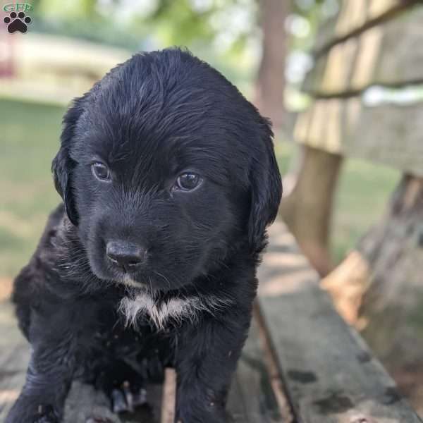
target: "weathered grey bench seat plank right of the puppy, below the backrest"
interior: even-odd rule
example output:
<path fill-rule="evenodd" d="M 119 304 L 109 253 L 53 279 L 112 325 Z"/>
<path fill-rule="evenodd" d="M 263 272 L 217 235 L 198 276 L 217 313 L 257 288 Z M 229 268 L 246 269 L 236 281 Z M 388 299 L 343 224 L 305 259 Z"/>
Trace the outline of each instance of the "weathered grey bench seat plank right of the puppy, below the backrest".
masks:
<path fill-rule="evenodd" d="M 281 223 L 271 233 L 290 238 L 281 247 L 295 245 Z M 273 235 L 271 244 L 276 245 Z M 283 262 L 286 253 L 280 254 Z M 307 277 L 269 288 L 280 268 L 275 257 L 269 263 L 264 256 L 259 305 L 297 421 L 422 422 L 364 341 L 335 312 L 317 275 L 310 277 L 310 270 Z"/>

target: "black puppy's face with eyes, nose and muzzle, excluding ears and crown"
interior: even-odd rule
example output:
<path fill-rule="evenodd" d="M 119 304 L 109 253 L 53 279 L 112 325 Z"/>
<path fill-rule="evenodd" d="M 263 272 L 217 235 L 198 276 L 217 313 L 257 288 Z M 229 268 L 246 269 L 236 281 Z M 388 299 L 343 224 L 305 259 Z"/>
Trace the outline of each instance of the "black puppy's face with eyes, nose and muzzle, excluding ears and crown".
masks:
<path fill-rule="evenodd" d="M 226 258 L 247 196 L 194 134 L 142 134 L 131 120 L 126 140 L 93 136 L 92 122 L 71 152 L 80 236 L 99 278 L 178 288 Z"/>

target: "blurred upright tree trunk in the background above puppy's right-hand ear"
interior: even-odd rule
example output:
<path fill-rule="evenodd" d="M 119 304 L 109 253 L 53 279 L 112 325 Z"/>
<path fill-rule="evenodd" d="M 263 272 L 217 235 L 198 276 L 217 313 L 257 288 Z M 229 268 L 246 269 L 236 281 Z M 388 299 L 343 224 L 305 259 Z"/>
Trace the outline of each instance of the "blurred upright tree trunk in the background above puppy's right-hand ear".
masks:
<path fill-rule="evenodd" d="M 284 116 L 286 32 L 288 1 L 261 0 L 263 52 L 257 75 L 255 104 L 263 116 L 281 128 Z"/>

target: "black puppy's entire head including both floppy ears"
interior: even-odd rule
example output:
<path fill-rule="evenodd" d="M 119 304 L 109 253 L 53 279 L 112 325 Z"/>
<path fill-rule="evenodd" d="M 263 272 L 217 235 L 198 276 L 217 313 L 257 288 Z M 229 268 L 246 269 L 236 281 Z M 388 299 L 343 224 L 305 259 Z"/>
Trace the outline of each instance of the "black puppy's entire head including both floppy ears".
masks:
<path fill-rule="evenodd" d="M 173 290 L 262 249 L 281 199 L 271 128 L 206 63 L 137 54 L 63 123 L 55 184 L 99 278 Z"/>

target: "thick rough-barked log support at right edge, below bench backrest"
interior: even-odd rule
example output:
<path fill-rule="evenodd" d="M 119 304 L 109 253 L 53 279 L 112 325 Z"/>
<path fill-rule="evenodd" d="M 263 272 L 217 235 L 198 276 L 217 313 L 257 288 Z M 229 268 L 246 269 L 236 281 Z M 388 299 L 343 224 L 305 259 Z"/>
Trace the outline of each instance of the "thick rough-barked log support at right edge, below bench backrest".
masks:
<path fill-rule="evenodd" d="M 323 286 L 423 412 L 423 178 L 403 176 L 383 221 Z"/>

